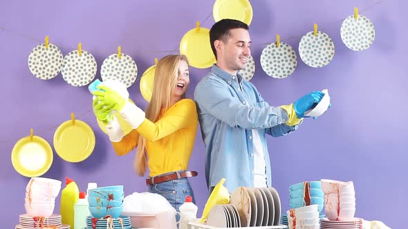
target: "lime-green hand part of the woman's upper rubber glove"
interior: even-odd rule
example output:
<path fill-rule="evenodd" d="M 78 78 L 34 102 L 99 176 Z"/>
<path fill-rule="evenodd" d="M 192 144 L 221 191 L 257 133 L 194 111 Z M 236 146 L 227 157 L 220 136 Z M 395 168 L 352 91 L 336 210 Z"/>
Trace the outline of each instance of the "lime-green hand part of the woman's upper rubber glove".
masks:
<path fill-rule="evenodd" d="M 100 106 L 108 110 L 122 110 L 126 100 L 123 99 L 118 92 L 115 92 L 107 86 L 98 86 L 97 88 L 100 90 L 95 90 L 92 94 L 99 100 Z"/>

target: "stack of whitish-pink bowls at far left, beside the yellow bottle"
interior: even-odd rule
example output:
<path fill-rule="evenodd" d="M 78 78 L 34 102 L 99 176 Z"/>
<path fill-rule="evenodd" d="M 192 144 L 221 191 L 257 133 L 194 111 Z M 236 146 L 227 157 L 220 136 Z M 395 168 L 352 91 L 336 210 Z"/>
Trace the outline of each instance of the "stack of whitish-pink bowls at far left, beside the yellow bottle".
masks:
<path fill-rule="evenodd" d="M 26 186 L 24 207 L 30 217 L 50 217 L 55 207 L 55 197 L 61 190 L 61 181 L 33 177 Z"/>

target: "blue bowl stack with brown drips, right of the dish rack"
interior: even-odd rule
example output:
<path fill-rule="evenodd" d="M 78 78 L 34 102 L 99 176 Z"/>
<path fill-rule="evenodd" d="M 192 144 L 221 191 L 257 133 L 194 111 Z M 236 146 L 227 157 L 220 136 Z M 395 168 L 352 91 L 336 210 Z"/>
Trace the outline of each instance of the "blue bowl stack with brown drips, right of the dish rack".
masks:
<path fill-rule="evenodd" d="M 295 183 L 289 187 L 289 206 L 290 208 L 301 208 L 307 206 L 308 195 L 310 195 L 310 204 L 317 205 L 317 211 L 322 212 L 324 206 L 324 193 L 320 181 L 306 181 Z"/>

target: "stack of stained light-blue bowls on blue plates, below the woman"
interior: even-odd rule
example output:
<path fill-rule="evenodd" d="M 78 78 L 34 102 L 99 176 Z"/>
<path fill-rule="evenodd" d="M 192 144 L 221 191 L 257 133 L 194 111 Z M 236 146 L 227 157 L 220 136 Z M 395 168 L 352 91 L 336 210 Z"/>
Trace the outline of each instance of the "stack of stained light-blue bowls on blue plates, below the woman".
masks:
<path fill-rule="evenodd" d="M 123 210 L 123 186 L 106 186 L 88 190 L 89 211 L 95 218 L 120 217 Z"/>

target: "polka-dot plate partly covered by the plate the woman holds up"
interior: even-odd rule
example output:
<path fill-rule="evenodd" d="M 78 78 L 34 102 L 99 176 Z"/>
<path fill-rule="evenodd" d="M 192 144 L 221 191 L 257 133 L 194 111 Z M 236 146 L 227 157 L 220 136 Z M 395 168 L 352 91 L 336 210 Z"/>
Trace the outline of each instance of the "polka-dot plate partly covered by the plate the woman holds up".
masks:
<path fill-rule="evenodd" d="M 100 67 L 100 75 L 102 80 L 115 79 L 121 81 L 129 88 L 138 76 L 138 66 L 136 62 L 127 54 L 122 53 L 122 57 L 118 58 L 118 54 L 111 54 L 106 58 Z"/>

